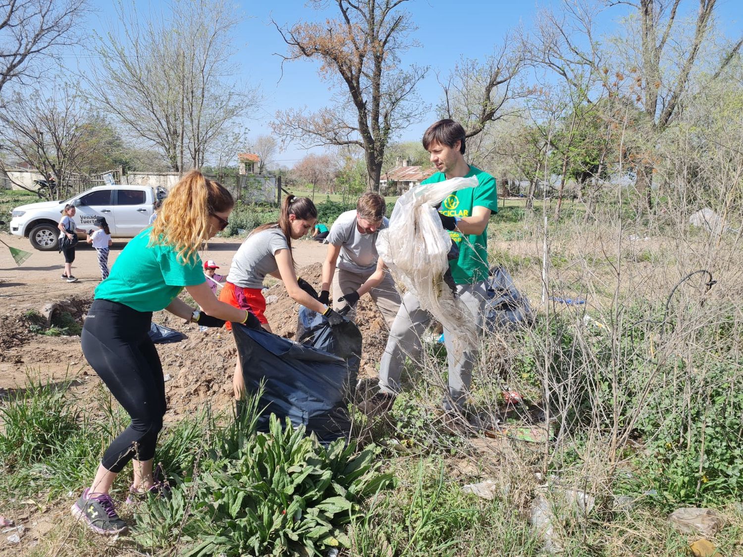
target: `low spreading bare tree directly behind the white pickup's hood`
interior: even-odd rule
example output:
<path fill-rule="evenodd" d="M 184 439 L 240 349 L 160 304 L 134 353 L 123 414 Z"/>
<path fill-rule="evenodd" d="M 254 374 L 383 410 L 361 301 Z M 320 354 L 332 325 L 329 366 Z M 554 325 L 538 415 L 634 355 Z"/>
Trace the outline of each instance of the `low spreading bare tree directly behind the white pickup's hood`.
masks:
<path fill-rule="evenodd" d="M 0 124 L 0 169 L 5 171 L 13 160 L 30 163 L 57 184 L 53 191 L 39 190 L 39 196 L 57 199 L 69 194 L 71 175 L 82 172 L 109 137 L 76 85 L 46 94 L 16 92 L 0 111 Z"/>

